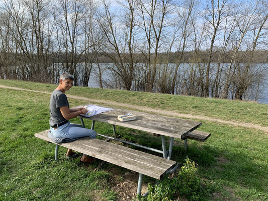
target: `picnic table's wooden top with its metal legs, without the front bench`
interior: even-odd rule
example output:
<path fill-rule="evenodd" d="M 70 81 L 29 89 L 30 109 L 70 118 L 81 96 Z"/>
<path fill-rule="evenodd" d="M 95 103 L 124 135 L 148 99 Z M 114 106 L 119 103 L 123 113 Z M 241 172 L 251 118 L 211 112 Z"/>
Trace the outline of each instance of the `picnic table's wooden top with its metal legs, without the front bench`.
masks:
<path fill-rule="evenodd" d="M 84 106 L 87 106 L 87 105 L 84 105 Z M 97 106 L 100 106 L 100 105 L 97 105 Z M 76 108 L 79 108 L 79 107 L 83 107 L 83 106 L 78 106 Z M 100 106 L 100 107 L 107 108 L 107 106 Z M 109 112 L 105 112 L 105 113 L 100 113 L 92 117 L 85 117 L 85 116 L 80 115 L 79 118 L 81 120 L 81 124 L 84 127 L 83 119 L 87 119 L 87 120 L 93 121 L 91 129 L 94 129 L 95 121 L 99 121 L 99 122 L 111 124 L 113 126 L 114 134 L 116 133 L 115 126 L 122 126 L 126 128 L 153 133 L 155 136 L 161 136 L 162 150 L 157 150 L 151 147 L 138 145 L 138 144 L 131 143 L 125 140 L 113 138 L 110 136 L 105 136 L 102 134 L 97 134 L 97 135 L 107 137 L 113 140 L 118 140 L 127 144 L 131 144 L 131 145 L 145 148 L 151 151 L 162 153 L 163 157 L 167 159 L 171 158 L 174 138 L 185 140 L 186 142 L 185 146 L 187 147 L 188 135 L 189 135 L 189 138 L 192 137 L 191 139 L 194 139 L 193 135 L 197 135 L 197 136 L 201 135 L 200 133 L 192 133 L 194 130 L 196 130 L 202 125 L 201 122 L 178 119 L 174 117 L 160 116 L 160 115 L 143 113 L 143 112 L 132 111 L 132 110 L 127 110 L 127 109 L 119 109 L 119 108 L 114 108 L 114 107 L 109 107 L 109 108 L 112 108 L 113 110 Z M 135 115 L 136 120 L 122 122 L 117 119 L 118 116 L 124 115 L 127 113 L 132 113 L 133 115 Z M 205 132 L 203 132 L 203 134 L 204 133 Z M 165 136 L 170 138 L 168 151 L 166 150 Z M 206 135 L 206 137 L 209 137 L 209 136 Z"/>

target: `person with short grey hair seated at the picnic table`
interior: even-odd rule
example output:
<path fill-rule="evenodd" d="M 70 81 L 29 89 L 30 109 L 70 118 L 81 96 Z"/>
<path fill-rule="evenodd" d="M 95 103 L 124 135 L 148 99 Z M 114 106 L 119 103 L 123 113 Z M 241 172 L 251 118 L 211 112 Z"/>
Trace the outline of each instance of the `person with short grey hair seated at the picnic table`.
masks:
<path fill-rule="evenodd" d="M 75 118 L 78 115 L 86 114 L 84 108 L 70 109 L 65 91 L 69 90 L 73 85 L 74 77 L 69 73 L 62 73 L 59 79 L 59 85 L 52 92 L 50 97 L 50 132 L 55 138 L 77 139 L 80 137 L 96 138 L 96 131 L 78 127 L 75 124 L 70 124 L 69 119 Z M 73 155 L 74 152 L 68 149 L 66 156 Z M 93 163 L 94 158 L 87 155 L 81 157 L 80 161 Z"/>

